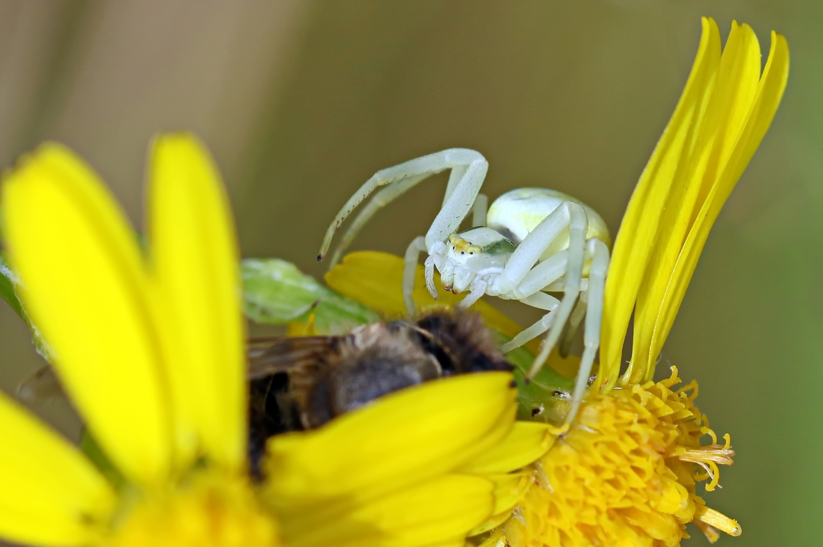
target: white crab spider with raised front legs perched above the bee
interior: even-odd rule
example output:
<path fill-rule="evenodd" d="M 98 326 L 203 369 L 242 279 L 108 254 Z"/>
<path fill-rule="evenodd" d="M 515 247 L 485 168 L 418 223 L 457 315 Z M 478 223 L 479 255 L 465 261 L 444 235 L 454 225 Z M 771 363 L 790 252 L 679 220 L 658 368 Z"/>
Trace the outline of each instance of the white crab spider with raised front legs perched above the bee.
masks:
<path fill-rule="evenodd" d="M 527 378 L 536 374 L 556 345 L 566 322 L 576 327 L 586 316 L 584 353 L 567 422 L 574 419 L 588 384 L 600 340 L 603 286 L 609 262 L 606 223 L 592 208 L 574 197 L 546 188 L 519 188 L 498 197 L 486 210 L 480 194 L 488 162 L 479 152 L 452 148 L 424 155 L 378 171 L 346 202 L 328 227 L 318 260 L 328 252 L 332 237 L 346 217 L 379 187 L 386 187 L 352 221 L 332 257 L 333 267 L 374 213 L 432 174 L 451 169 L 443 206 L 425 237 L 414 239 L 406 251 L 403 299 L 415 312 L 412 290 L 420 253 L 425 260 L 425 283 L 437 298 L 434 273 L 440 272 L 445 290 L 469 294 L 460 303 L 471 306 L 483 294 L 516 299 L 546 314 L 505 343 L 514 350 L 549 331 Z M 473 208 L 473 228 L 456 233 Z M 558 300 L 546 292 L 563 292 Z M 578 300 L 580 304 L 575 307 Z"/>

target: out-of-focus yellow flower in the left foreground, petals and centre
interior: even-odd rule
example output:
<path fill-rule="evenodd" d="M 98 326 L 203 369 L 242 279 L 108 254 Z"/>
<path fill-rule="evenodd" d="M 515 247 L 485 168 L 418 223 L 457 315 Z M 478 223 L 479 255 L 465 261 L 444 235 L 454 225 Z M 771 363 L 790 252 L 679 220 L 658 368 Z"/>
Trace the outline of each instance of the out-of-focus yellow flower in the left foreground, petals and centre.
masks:
<path fill-rule="evenodd" d="M 45 144 L 2 185 L 21 301 L 123 482 L 0 395 L 0 537 L 279 545 L 246 469 L 244 325 L 219 174 L 186 134 L 150 161 L 148 251 L 91 169 Z"/>

